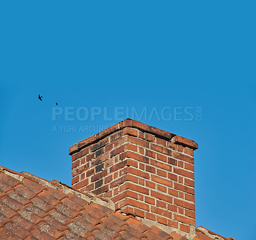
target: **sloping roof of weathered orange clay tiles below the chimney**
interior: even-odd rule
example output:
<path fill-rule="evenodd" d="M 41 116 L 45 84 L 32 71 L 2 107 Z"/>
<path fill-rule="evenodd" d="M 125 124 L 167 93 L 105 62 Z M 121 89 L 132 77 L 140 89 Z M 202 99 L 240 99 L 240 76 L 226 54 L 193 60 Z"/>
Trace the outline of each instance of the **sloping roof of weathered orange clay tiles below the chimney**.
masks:
<path fill-rule="evenodd" d="M 193 240 L 227 240 L 198 227 Z M 176 232 L 142 224 L 113 211 L 111 202 L 81 193 L 60 181 L 47 181 L 28 172 L 0 166 L 0 239 L 173 239 Z"/>

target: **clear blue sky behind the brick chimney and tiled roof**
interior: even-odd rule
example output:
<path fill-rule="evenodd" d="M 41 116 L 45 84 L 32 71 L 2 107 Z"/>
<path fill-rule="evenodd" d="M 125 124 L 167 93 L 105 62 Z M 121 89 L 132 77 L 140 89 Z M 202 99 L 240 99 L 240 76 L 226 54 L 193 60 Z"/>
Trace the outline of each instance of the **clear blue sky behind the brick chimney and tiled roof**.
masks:
<path fill-rule="evenodd" d="M 71 184 L 68 148 L 118 122 L 117 107 L 168 108 L 134 119 L 199 144 L 196 226 L 253 240 L 255 20 L 253 1 L 2 1 L 0 164 Z"/>

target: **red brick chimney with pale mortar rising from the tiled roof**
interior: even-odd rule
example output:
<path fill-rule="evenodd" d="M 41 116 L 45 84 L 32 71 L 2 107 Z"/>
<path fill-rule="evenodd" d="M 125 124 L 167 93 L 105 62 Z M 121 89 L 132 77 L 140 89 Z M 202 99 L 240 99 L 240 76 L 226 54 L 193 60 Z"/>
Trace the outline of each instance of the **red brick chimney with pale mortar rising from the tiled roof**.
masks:
<path fill-rule="evenodd" d="M 70 147 L 72 186 L 110 199 L 115 210 L 195 236 L 193 140 L 125 119 Z"/>

